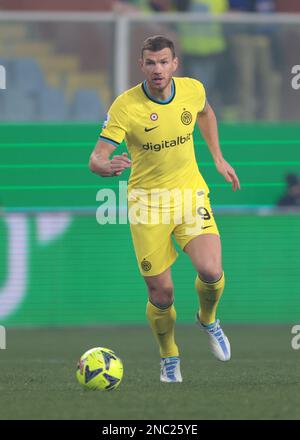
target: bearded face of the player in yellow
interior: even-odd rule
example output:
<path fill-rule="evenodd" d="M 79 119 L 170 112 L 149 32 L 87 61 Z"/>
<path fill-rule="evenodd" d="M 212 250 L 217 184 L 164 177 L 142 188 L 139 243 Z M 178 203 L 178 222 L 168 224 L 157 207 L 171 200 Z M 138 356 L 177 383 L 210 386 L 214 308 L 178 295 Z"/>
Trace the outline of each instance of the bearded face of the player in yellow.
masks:
<path fill-rule="evenodd" d="M 168 87 L 178 67 L 178 59 L 173 58 L 168 47 L 159 52 L 145 50 L 140 63 L 148 85 L 158 91 Z"/>

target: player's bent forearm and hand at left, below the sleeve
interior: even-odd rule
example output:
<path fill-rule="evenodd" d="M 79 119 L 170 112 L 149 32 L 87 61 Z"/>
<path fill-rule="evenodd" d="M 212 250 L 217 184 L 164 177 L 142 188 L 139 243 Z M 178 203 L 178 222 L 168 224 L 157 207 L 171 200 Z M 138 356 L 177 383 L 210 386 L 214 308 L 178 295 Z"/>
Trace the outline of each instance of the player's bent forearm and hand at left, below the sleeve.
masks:
<path fill-rule="evenodd" d="M 111 177 L 119 176 L 126 168 L 129 168 L 131 161 L 128 159 L 127 153 L 113 156 L 110 159 L 115 149 L 113 144 L 100 139 L 90 157 L 90 170 L 99 176 Z"/>

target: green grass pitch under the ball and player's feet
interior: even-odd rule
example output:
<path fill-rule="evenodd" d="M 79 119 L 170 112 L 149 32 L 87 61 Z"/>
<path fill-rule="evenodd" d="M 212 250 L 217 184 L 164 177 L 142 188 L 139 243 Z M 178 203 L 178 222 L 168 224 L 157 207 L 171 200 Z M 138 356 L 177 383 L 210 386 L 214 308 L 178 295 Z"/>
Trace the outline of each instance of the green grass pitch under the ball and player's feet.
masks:
<path fill-rule="evenodd" d="M 147 327 L 8 329 L 0 419 L 300 419 L 300 351 L 291 348 L 291 326 L 225 330 L 233 352 L 227 364 L 212 357 L 196 326 L 178 325 L 183 383 L 161 384 Z M 115 391 L 85 391 L 76 382 L 79 357 L 95 346 L 123 360 Z"/>

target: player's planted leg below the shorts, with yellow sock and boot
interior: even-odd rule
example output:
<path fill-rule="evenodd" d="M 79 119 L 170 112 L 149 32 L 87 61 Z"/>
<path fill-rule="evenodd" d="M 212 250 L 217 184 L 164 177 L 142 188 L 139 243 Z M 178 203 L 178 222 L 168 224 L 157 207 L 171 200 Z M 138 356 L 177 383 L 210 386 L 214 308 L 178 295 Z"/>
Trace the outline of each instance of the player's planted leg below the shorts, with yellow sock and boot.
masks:
<path fill-rule="evenodd" d="M 181 382 L 179 351 L 175 343 L 176 311 L 171 269 L 144 277 L 148 287 L 147 318 L 158 342 L 162 382 Z"/>

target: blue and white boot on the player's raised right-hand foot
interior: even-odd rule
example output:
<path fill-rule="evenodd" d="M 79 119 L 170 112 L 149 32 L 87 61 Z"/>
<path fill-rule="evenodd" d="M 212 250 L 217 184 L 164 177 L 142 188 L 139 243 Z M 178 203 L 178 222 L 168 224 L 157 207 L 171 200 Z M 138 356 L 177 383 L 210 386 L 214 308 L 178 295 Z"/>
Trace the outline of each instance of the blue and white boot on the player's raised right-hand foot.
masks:
<path fill-rule="evenodd" d="M 210 325 L 204 325 L 199 320 L 199 315 L 196 315 L 197 325 L 207 333 L 209 338 L 209 345 L 213 355 L 222 362 L 227 362 L 231 358 L 230 343 L 223 332 L 220 321 L 217 320 Z"/>

